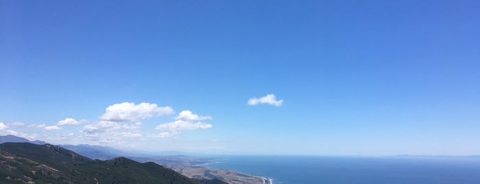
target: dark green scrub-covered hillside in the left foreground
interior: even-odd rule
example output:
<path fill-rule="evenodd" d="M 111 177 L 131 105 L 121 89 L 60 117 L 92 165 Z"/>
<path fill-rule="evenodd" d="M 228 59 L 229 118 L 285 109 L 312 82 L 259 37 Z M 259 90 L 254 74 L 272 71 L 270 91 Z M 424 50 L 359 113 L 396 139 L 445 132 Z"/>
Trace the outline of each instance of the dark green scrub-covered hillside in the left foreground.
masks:
<path fill-rule="evenodd" d="M 125 157 L 93 160 L 48 143 L 1 143 L 0 163 L 0 183 L 225 184 L 190 179 L 153 162 L 139 163 Z"/>

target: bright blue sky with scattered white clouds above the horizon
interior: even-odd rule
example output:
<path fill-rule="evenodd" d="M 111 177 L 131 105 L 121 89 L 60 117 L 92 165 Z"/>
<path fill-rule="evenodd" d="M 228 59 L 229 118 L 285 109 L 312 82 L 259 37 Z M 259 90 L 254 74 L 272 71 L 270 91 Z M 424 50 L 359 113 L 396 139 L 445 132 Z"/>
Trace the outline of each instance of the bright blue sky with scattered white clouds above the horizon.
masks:
<path fill-rule="evenodd" d="M 216 154 L 480 154 L 478 7 L 0 1 L 0 134 Z"/>

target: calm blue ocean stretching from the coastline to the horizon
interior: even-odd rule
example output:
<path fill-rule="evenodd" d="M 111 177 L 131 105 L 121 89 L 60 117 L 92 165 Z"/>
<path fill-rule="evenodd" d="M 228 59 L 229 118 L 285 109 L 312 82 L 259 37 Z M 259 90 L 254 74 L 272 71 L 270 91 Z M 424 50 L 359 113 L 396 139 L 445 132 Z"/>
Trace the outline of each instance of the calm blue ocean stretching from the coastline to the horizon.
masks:
<path fill-rule="evenodd" d="M 222 156 L 205 165 L 299 183 L 480 183 L 480 159 L 464 157 Z"/>

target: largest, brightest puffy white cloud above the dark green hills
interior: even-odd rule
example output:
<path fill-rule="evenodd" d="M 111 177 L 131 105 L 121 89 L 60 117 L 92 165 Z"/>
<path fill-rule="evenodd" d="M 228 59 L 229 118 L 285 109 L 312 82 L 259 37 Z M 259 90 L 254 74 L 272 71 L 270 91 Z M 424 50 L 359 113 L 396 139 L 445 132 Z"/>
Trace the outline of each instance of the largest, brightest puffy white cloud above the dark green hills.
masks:
<path fill-rule="evenodd" d="M 122 104 L 108 106 L 100 118 L 111 122 L 128 122 L 172 113 L 174 111 L 170 106 L 159 107 L 157 104 L 145 102 L 135 105 L 133 102 L 123 102 Z"/>

